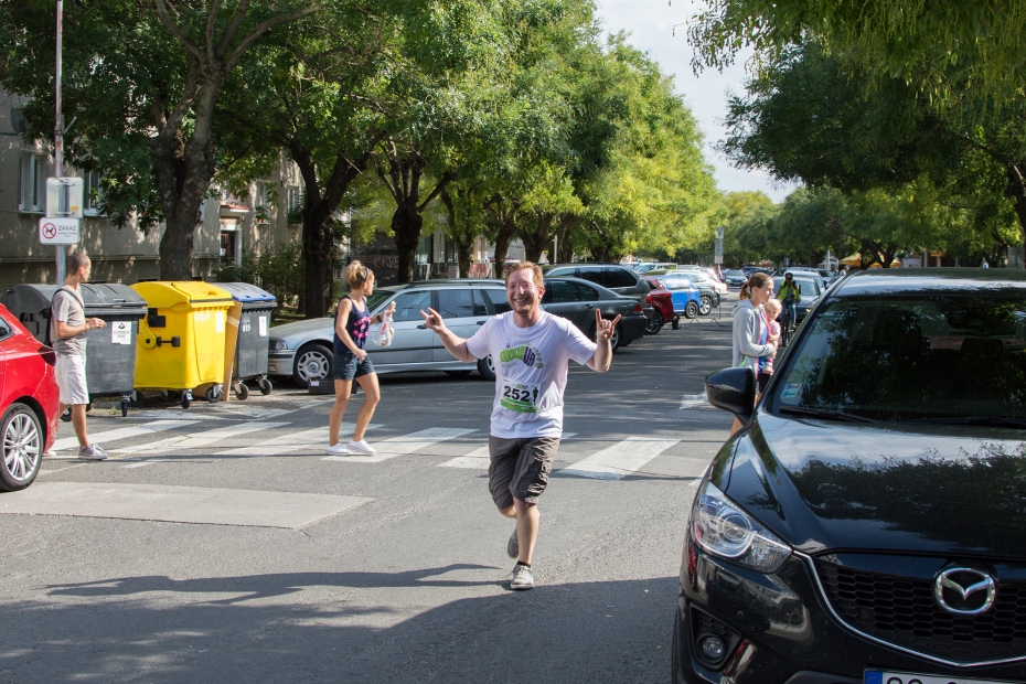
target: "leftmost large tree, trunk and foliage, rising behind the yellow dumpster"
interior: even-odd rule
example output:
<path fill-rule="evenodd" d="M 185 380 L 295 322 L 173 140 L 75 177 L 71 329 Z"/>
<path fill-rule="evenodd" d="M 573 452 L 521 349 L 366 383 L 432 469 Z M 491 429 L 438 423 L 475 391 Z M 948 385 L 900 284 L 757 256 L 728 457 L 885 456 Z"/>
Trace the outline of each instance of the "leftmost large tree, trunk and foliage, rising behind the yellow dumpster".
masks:
<path fill-rule="evenodd" d="M 319 6 L 290 0 L 140 4 L 83 0 L 65 7 L 67 159 L 107 170 L 108 209 L 141 226 L 164 222 L 161 277 L 191 276 L 200 203 L 225 154 L 214 110 L 236 67 L 272 28 Z M 32 136 L 54 130 L 54 13 L 39 0 L 0 4 L 0 85 L 32 97 Z"/>

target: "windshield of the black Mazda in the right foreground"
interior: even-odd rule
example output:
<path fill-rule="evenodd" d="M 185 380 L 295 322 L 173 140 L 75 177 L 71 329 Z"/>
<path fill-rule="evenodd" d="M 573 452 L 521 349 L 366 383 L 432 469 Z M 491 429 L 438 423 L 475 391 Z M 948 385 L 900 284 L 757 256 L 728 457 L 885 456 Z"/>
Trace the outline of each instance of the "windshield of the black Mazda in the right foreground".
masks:
<path fill-rule="evenodd" d="M 780 414 L 987 423 L 1026 418 L 1026 299 L 826 302 L 770 397 Z"/>

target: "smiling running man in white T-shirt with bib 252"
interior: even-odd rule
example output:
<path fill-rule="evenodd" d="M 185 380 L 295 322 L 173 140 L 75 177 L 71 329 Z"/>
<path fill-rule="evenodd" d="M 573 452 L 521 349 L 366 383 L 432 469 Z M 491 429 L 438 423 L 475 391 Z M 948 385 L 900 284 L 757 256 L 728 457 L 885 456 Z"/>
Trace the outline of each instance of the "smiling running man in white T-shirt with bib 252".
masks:
<path fill-rule="evenodd" d="M 470 363 L 489 354 L 495 365 L 488 450 L 488 487 L 499 512 L 516 519 L 506 544 L 513 567 L 512 589 L 531 589 L 531 557 L 538 536 L 538 496 L 563 436 L 563 393 L 569 360 L 605 373 L 612 362 L 610 339 L 620 322 L 595 311 L 597 344 L 574 323 L 542 310 L 545 293 L 542 269 L 531 261 L 506 271 L 506 299 L 512 311 L 488 320 L 464 340 L 446 328 L 434 309 L 420 313 L 449 353 Z"/>

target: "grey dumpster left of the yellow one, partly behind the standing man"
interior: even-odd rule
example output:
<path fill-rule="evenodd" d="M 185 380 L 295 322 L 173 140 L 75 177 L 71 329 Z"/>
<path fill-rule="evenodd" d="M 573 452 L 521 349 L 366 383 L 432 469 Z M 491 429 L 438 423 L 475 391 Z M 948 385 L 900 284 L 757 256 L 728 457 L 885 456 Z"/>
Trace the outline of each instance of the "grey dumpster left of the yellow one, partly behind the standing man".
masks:
<path fill-rule="evenodd" d="M 15 285 L 2 297 L 3 303 L 32 335 L 52 346 L 50 304 L 56 285 Z M 98 318 L 106 328 L 86 332 L 86 382 L 89 398 L 119 396 L 121 415 L 128 415 L 135 384 L 136 335 L 146 316 L 146 300 L 127 285 L 84 284 L 79 286 L 86 318 Z"/>

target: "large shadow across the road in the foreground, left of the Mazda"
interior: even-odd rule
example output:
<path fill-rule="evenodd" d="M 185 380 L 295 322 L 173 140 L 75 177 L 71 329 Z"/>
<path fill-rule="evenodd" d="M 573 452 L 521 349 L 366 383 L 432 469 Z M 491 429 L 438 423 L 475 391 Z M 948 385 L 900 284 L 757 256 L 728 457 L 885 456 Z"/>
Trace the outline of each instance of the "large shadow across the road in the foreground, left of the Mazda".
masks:
<path fill-rule="evenodd" d="M 45 599 L 4 605 L 11 629 L 0 633 L 0 675 L 20 684 L 622 684 L 669 675 L 676 577 L 526 592 L 431 579 L 485 568 L 55 585 Z M 451 588 L 469 585 L 481 596 Z M 440 591 L 456 596 L 445 602 Z"/>

